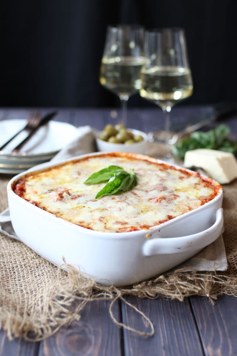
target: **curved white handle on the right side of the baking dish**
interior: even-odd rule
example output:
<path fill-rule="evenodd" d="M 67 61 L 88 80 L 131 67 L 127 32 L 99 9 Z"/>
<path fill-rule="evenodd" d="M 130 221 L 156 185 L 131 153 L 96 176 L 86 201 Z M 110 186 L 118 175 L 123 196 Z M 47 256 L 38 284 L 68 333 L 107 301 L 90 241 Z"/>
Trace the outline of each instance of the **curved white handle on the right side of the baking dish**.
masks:
<path fill-rule="evenodd" d="M 169 253 L 194 252 L 208 246 L 220 236 L 223 228 L 223 209 L 216 210 L 215 223 L 197 234 L 182 237 L 166 237 L 147 240 L 142 247 L 143 255 L 167 255 Z"/>

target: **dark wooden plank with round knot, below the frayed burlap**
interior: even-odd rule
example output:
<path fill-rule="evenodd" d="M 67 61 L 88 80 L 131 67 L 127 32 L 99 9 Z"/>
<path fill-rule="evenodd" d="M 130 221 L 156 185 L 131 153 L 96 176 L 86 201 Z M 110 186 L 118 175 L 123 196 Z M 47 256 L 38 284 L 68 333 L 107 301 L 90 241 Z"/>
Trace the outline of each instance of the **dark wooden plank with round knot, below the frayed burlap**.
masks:
<path fill-rule="evenodd" d="M 61 328 L 54 336 L 41 342 L 39 356 L 121 356 L 120 328 L 109 315 L 109 301 L 88 303 L 81 319 L 68 328 Z M 114 315 L 119 319 L 118 303 Z"/>

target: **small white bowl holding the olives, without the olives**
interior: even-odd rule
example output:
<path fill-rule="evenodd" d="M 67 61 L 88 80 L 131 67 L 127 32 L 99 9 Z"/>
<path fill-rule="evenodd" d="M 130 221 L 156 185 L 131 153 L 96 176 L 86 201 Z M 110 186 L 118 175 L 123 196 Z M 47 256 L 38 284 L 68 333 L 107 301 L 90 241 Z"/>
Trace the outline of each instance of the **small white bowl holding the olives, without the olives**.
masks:
<path fill-rule="evenodd" d="M 141 135 L 143 137 L 143 140 L 140 142 L 131 143 L 130 145 L 126 145 L 125 143 L 111 143 L 111 142 L 103 141 L 97 136 L 96 145 L 98 151 L 146 154 L 147 141 L 148 141 L 148 136 L 146 135 L 146 133 L 135 129 L 127 129 L 127 130 L 132 132 L 134 135 Z"/>

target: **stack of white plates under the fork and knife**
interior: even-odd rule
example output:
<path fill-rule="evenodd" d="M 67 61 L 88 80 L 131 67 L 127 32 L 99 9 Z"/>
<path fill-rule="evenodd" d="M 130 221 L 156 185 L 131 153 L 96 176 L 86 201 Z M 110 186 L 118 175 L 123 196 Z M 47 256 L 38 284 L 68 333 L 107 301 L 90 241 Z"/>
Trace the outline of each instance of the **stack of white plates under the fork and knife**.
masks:
<path fill-rule="evenodd" d="M 27 123 L 25 119 L 0 121 L 0 147 Z M 66 122 L 49 121 L 38 129 L 31 139 L 22 147 L 20 152 L 12 153 L 26 136 L 22 131 L 2 151 L 0 151 L 0 173 L 17 174 L 50 161 L 61 148 L 65 147 L 78 135 L 77 127 Z"/>

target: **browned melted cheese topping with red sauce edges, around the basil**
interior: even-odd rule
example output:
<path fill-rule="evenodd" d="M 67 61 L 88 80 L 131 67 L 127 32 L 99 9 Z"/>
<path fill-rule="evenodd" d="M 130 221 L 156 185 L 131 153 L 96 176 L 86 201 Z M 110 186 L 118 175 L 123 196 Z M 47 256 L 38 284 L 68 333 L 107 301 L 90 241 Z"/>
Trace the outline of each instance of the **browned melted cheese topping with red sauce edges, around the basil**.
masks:
<path fill-rule="evenodd" d="M 83 182 L 110 165 L 134 172 L 133 189 L 95 199 L 106 182 Z M 88 229 L 124 232 L 149 229 L 213 199 L 220 188 L 198 173 L 177 169 L 140 155 L 108 153 L 66 162 L 22 177 L 16 194 L 39 208 Z"/>

